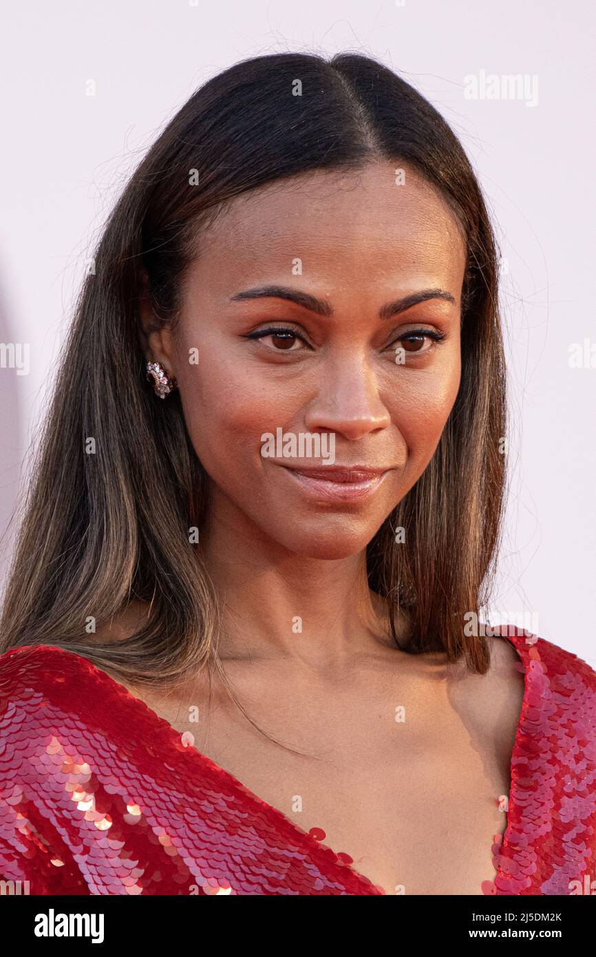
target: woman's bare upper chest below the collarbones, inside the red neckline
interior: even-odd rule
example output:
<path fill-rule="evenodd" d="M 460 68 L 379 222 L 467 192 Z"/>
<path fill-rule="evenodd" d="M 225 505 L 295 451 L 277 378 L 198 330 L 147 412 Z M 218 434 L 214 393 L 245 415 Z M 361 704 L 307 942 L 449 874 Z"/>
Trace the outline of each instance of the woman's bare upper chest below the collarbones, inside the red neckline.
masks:
<path fill-rule="evenodd" d="M 495 877 L 491 847 L 506 826 L 499 797 L 509 789 L 510 752 L 450 707 L 435 701 L 430 714 L 414 707 L 400 721 L 398 708 L 361 712 L 352 703 L 342 714 L 311 701 L 300 713 L 295 702 L 275 728 L 265 723 L 286 747 L 225 707 L 207 723 L 180 706 L 160 711 L 298 828 L 317 829 L 324 844 L 352 857 L 386 894 L 481 895 Z"/>

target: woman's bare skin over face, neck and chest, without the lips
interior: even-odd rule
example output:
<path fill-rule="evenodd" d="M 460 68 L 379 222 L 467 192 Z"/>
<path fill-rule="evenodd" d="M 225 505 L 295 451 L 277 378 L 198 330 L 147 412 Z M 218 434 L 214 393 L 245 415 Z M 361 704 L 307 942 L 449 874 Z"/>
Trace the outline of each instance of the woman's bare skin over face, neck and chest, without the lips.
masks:
<path fill-rule="evenodd" d="M 176 376 L 209 476 L 201 548 L 226 674 L 254 721 L 295 750 L 259 734 L 217 683 L 209 707 L 203 676 L 175 694 L 129 690 L 298 827 L 322 829 L 387 894 L 475 895 L 495 877 L 523 693 L 505 640 L 493 639 L 485 676 L 396 650 L 365 575 L 367 543 L 425 470 L 453 408 L 464 269 L 440 194 L 409 167 L 398 186 L 394 164 L 374 163 L 233 200 L 201 239 L 178 327 L 155 329 L 143 308 L 146 357 Z M 264 286 L 319 305 L 238 298 Z M 289 331 L 254 338 L 271 326 Z M 278 427 L 333 433 L 336 464 L 386 474 L 362 499 L 324 499 L 284 459 L 261 456 L 261 435 Z M 145 613 L 131 605 L 99 640 L 129 634 Z"/>

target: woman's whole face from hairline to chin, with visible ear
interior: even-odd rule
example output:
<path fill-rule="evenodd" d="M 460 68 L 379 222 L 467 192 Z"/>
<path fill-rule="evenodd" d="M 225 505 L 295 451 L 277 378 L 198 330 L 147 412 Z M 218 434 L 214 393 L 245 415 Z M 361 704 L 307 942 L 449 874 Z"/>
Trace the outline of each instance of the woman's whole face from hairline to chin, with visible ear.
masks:
<path fill-rule="evenodd" d="M 311 557 L 359 552 L 459 388 L 452 212 L 409 167 L 401 185 L 391 163 L 318 171 L 235 199 L 201 246 L 179 324 L 149 345 L 178 380 L 210 521 Z M 382 474 L 363 485 L 340 466 Z"/>

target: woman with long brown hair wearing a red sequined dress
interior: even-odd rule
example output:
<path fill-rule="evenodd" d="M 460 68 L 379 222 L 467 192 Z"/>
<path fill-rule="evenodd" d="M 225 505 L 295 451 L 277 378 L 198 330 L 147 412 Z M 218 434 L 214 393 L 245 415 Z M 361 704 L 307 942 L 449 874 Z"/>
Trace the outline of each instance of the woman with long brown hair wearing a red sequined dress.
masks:
<path fill-rule="evenodd" d="M 378 62 L 241 62 L 124 189 L 0 624 L 0 875 L 38 894 L 569 894 L 596 674 L 478 622 L 497 252 Z M 505 628 L 505 632 L 507 632 Z"/>

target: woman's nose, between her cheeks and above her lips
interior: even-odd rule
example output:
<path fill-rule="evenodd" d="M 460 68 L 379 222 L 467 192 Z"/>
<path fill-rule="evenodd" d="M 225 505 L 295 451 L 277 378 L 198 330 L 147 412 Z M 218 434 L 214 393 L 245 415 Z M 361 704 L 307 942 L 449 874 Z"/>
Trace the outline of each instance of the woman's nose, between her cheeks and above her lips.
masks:
<path fill-rule="evenodd" d="M 364 356 L 343 353 L 321 367 L 317 396 L 304 416 L 310 433 L 324 430 L 357 439 L 390 423 L 377 376 Z"/>

